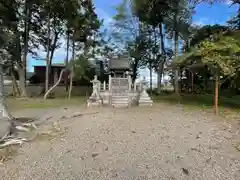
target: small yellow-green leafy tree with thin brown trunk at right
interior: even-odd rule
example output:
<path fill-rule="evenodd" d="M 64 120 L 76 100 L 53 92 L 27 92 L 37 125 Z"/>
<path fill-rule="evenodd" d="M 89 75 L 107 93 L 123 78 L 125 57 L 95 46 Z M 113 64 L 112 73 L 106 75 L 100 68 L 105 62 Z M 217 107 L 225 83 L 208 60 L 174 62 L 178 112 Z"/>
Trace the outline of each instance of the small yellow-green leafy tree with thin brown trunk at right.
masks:
<path fill-rule="evenodd" d="M 203 40 L 198 47 L 183 54 L 175 64 L 182 64 L 195 59 L 195 65 L 208 66 L 215 77 L 215 105 L 214 112 L 218 115 L 219 78 L 235 76 L 240 70 L 239 31 L 228 31 L 211 36 Z M 193 66 L 192 64 L 191 66 Z"/>

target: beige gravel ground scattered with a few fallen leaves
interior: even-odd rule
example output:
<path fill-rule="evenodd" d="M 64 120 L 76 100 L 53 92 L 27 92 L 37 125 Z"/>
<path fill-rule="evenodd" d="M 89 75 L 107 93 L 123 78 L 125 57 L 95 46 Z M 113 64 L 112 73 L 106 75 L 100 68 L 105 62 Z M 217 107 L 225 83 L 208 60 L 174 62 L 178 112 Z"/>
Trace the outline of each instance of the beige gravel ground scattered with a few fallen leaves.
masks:
<path fill-rule="evenodd" d="M 61 118 L 77 111 L 84 115 Z M 170 105 L 46 114 L 65 133 L 24 144 L 0 166 L 1 180 L 240 179 L 238 125 L 209 114 Z"/>

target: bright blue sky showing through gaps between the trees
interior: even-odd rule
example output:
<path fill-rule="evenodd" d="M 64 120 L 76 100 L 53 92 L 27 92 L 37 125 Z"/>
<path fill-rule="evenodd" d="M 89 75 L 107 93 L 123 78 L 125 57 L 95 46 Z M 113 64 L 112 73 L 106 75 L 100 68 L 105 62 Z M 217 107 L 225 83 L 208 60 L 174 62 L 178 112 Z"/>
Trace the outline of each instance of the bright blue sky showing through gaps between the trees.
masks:
<path fill-rule="evenodd" d="M 116 14 L 115 7 L 121 3 L 122 0 L 93 0 L 96 7 L 96 12 L 100 19 L 104 19 L 105 28 L 112 21 L 112 17 Z M 224 3 L 218 3 L 214 5 L 209 5 L 202 3 L 198 5 L 195 9 L 195 14 L 193 16 L 193 23 L 198 25 L 205 24 L 224 24 L 237 12 L 236 6 L 229 6 L 229 0 L 225 0 Z M 42 55 L 44 53 L 39 50 Z M 65 57 L 65 43 L 63 42 L 62 48 L 55 52 L 53 61 L 55 63 L 61 63 L 64 61 Z M 43 56 L 44 57 L 44 56 Z M 34 65 L 45 64 L 43 60 L 34 60 L 29 56 L 28 70 L 33 71 Z M 148 69 L 141 70 L 141 75 L 148 77 Z M 156 75 L 154 74 L 154 80 Z"/>

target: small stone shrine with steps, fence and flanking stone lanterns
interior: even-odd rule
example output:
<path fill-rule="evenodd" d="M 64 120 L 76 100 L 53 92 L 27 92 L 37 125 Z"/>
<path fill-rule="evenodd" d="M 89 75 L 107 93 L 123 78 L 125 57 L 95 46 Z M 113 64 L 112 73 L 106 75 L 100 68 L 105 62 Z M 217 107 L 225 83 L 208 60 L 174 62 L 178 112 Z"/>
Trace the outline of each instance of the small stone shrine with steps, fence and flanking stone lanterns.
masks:
<path fill-rule="evenodd" d="M 110 107 L 131 107 L 133 105 L 152 105 L 146 91 L 146 81 L 132 83 L 128 59 L 111 59 L 108 64 L 108 84 L 101 83 L 97 76 L 91 81 L 93 92 L 87 101 L 88 107 L 107 105 Z"/>

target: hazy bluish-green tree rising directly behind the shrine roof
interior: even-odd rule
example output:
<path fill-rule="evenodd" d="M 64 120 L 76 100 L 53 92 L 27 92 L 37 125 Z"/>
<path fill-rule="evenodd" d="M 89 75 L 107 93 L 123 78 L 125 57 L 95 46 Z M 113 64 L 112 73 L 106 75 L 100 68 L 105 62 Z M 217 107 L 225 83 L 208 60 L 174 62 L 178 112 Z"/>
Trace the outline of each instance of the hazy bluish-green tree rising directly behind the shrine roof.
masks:
<path fill-rule="evenodd" d="M 143 66 L 142 62 L 146 57 L 147 39 L 145 37 L 146 28 L 133 13 L 131 3 L 130 0 L 124 0 L 116 7 L 117 14 L 113 17 L 112 36 L 118 49 L 121 48 L 120 54 L 129 58 L 134 82 L 138 75 L 138 69 Z"/>

